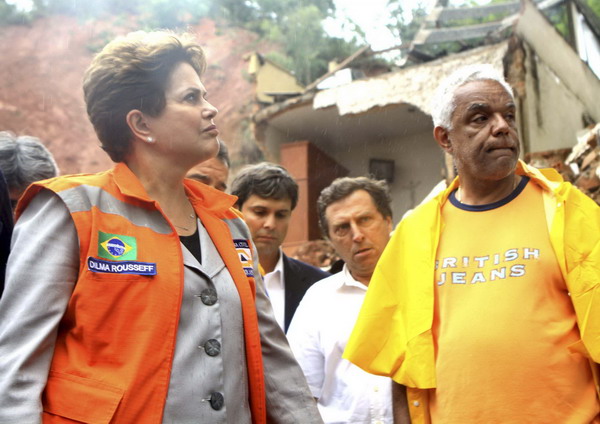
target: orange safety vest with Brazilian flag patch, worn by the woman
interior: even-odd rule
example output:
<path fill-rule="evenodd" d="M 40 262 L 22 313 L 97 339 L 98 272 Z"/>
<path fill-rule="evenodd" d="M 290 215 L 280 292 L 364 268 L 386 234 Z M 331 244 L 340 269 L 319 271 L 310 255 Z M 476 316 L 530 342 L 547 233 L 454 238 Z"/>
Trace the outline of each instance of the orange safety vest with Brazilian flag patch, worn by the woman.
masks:
<path fill-rule="evenodd" d="M 35 184 L 17 215 L 42 188 L 67 205 L 80 253 L 42 398 L 44 423 L 161 423 L 184 284 L 177 232 L 122 163 L 99 174 Z M 191 180 L 185 188 L 238 289 L 252 422 L 266 423 L 255 281 L 234 246 L 234 239 L 249 234 L 231 208 L 235 197 Z M 107 251 L 121 260 L 111 260 Z M 102 267 L 112 272 L 92 271 Z"/>

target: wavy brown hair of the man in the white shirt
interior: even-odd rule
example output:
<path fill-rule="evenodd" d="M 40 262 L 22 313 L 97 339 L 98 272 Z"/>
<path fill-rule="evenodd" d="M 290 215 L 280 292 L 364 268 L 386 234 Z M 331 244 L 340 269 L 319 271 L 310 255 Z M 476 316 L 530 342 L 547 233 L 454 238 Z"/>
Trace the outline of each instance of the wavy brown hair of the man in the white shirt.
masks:
<path fill-rule="evenodd" d="M 384 218 L 392 218 L 392 198 L 390 189 L 385 180 L 374 180 L 367 177 L 343 177 L 335 179 L 325 187 L 317 199 L 317 213 L 319 214 L 319 227 L 325 237 L 329 238 L 329 223 L 325 216 L 327 207 L 339 202 L 358 190 L 364 190 L 371 196 L 377 211 Z"/>

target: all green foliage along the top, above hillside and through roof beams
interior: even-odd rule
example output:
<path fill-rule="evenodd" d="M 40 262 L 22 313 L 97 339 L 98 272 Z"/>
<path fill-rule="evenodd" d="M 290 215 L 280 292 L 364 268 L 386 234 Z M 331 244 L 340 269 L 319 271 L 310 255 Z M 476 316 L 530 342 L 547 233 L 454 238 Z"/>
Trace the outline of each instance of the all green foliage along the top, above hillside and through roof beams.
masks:
<path fill-rule="evenodd" d="M 491 3 L 506 1 L 510 0 L 492 0 Z M 584 1 L 600 17 L 600 0 L 580 1 Z M 476 0 L 466 0 L 462 5 L 454 6 L 475 6 L 477 3 Z M 422 0 L 417 7 L 407 11 L 403 0 L 388 0 L 391 21 L 387 28 L 398 39 L 398 45 L 407 47 L 414 39 L 427 16 L 428 4 Z M 342 61 L 365 44 L 364 33 L 354 22 L 347 22 L 355 34 L 350 41 L 331 37 L 325 32 L 324 20 L 335 14 L 334 0 L 33 0 L 33 9 L 28 12 L 19 11 L 6 0 L 0 0 L 0 25 L 29 24 L 34 19 L 52 14 L 66 14 L 82 20 L 135 16 L 139 25 L 146 29 L 186 28 L 202 17 L 209 17 L 219 23 L 220 32 L 229 27 L 242 27 L 258 33 L 263 40 L 278 43 L 282 49 L 267 54 L 267 57 L 292 70 L 302 84 L 308 84 L 326 73 L 330 61 Z M 572 42 L 565 5 L 548 10 L 546 14 L 563 36 Z M 490 15 L 477 20 L 461 19 L 447 26 L 473 25 L 500 18 L 502 16 Z M 88 48 L 91 51 L 100 49 L 110 34 L 104 35 Z M 482 42 L 477 39 L 428 44 L 418 50 L 435 58 Z M 382 59 L 362 57 L 355 65 L 364 68 L 381 66 Z"/>

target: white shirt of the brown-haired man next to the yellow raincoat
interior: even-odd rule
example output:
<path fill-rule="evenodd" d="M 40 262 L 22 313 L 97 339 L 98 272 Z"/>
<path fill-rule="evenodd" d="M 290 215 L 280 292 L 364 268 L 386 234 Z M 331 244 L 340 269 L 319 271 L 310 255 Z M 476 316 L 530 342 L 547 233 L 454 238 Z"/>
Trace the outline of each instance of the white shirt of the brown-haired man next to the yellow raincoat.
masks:
<path fill-rule="evenodd" d="M 325 423 L 393 423 L 391 380 L 342 359 L 366 291 L 344 265 L 308 289 L 287 333 Z"/>

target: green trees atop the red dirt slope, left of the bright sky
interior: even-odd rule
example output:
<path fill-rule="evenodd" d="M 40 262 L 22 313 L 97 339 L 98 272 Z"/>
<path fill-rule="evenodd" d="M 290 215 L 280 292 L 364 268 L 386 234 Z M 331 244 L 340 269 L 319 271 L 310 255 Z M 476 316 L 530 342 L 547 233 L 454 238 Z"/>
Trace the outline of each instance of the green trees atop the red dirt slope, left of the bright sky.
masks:
<path fill-rule="evenodd" d="M 209 17 L 221 27 L 246 28 L 278 43 L 282 51 L 270 59 L 308 84 L 327 72 L 329 61 L 342 60 L 359 48 L 355 41 L 325 33 L 322 22 L 334 11 L 333 0 L 33 0 L 31 11 L 19 12 L 0 0 L 0 23 L 23 24 L 53 14 L 82 20 L 133 15 L 146 29 L 176 29 Z M 88 49 L 97 51 L 100 42 L 104 40 Z"/>

